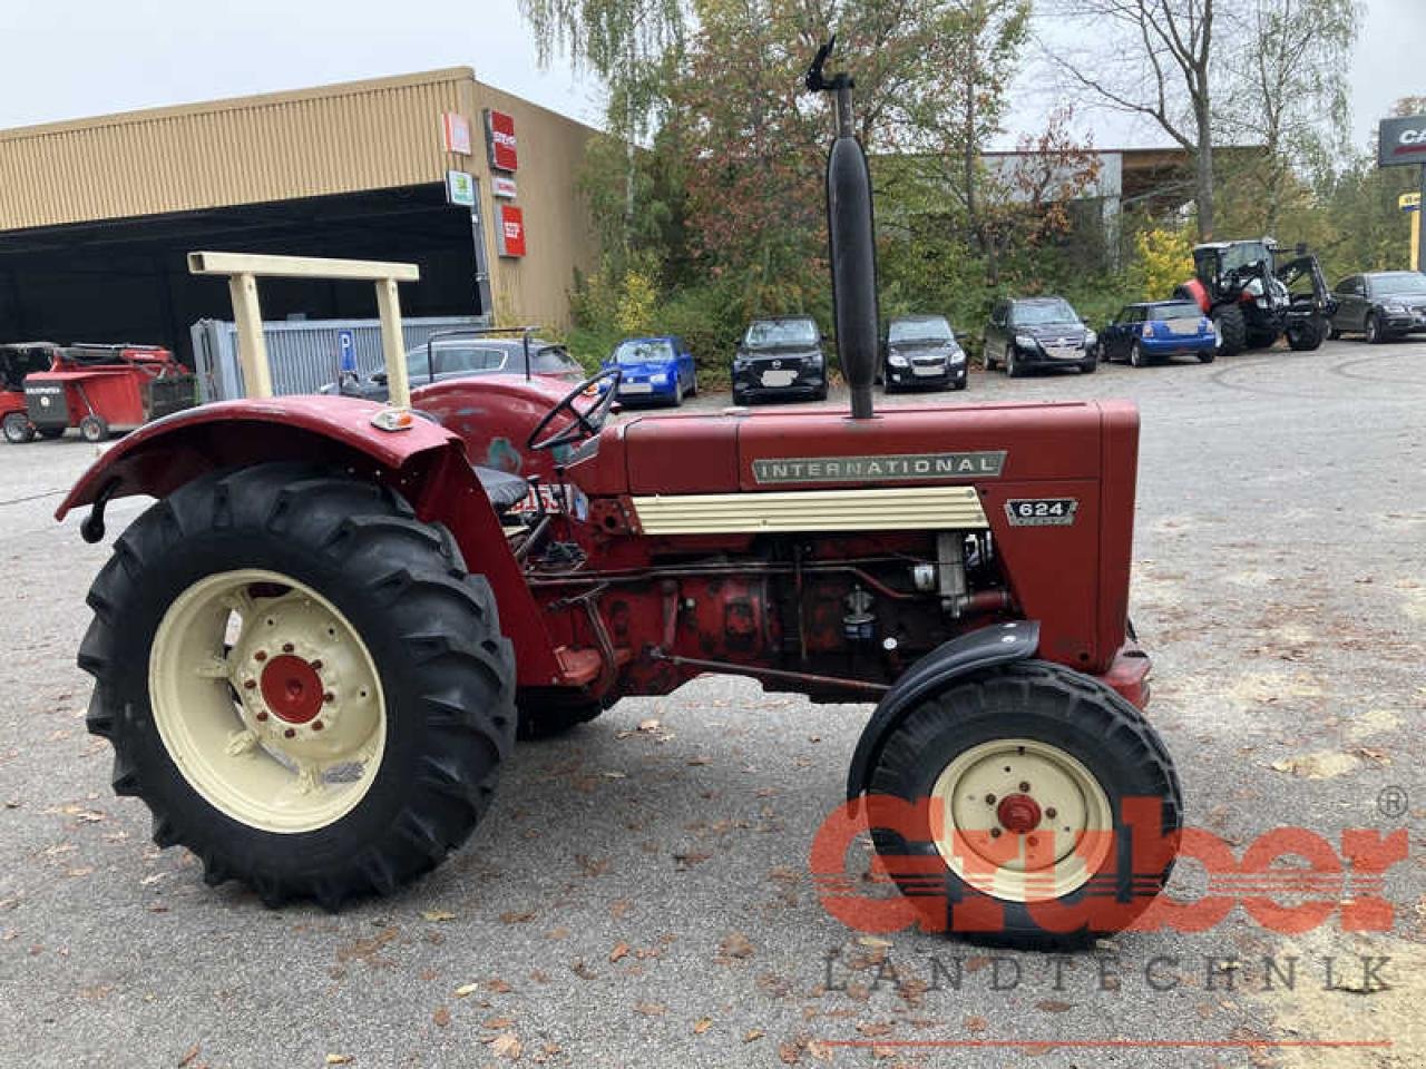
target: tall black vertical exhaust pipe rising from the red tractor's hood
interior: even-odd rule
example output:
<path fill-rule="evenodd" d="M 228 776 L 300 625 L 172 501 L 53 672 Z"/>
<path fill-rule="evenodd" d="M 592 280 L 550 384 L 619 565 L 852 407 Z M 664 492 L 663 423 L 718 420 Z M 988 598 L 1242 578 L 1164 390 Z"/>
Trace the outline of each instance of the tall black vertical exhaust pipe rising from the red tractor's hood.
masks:
<path fill-rule="evenodd" d="M 871 419 L 871 379 L 877 362 L 877 247 L 871 217 L 871 170 L 853 127 L 851 88 L 846 71 L 823 77 L 821 68 L 837 36 L 817 50 L 807 70 L 809 93 L 831 93 L 837 137 L 827 153 L 827 244 L 831 295 L 837 321 L 837 353 L 851 388 L 851 418 Z"/>

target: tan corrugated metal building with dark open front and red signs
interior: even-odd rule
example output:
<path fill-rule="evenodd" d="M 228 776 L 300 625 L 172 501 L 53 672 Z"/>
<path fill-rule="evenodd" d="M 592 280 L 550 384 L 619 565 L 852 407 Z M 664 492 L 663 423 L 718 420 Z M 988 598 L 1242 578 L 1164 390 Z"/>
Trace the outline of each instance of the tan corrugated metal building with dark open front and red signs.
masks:
<path fill-rule="evenodd" d="M 411 315 L 568 318 L 596 258 L 593 131 L 469 67 L 0 131 L 0 341 L 163 342 L 228 318 L 191 249 L 416 262 Z M 270 281 L 267 318 L 371 315 L 365 285 Z"/>

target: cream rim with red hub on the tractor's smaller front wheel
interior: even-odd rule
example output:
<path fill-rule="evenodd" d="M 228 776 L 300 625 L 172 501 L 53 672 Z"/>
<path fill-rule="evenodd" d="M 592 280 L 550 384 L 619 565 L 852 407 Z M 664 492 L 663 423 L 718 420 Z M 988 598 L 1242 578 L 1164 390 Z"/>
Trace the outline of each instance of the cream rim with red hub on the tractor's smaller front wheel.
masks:
<path fill-rule="evenodd" d="M 1037 902 L 1062 898 L 1099 871 L 1114 817 L 1078 758 L 1034 738 L 997 738 L 957 754 L 935 778 L 931 832 L 964 882 Z"/>

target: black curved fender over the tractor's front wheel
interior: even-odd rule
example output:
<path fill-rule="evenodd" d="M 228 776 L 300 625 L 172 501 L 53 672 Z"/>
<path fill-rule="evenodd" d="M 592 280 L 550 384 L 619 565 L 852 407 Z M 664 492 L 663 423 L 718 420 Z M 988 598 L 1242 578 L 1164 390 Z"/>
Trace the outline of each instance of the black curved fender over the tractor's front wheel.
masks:
<path fill-rule="evenodd" d="M 1015 620 L 991 624 L 941 643 L 898 678 L 861 730 L 847 770 L 847 798 L 860 798 L 871 785 L 871 770 L 887 737 L 924 698 L 953 680 L 981 668 L 1034 657 L 1040 649 L 1040 623 Z"/>

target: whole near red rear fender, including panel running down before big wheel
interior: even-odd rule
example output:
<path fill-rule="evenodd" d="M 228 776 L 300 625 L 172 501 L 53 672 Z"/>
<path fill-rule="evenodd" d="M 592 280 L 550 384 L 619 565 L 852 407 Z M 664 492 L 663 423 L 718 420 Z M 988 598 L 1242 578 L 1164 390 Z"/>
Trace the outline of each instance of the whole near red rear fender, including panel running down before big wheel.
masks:
<path fill-rule="evenodd" d="M 354 398 L 291 396 L 230 401 L 148 423 L 108 449 L 56 509 L 114 497 L 165 497 L 222 468 L 309 460 L 345 468 L 389 486 L 416 516 L 445 525 L 472 572 L 483 574 L 501 610 L 501 630 L 515 644 L 520 686 L 559 674 L 543 614 L 530 596 L 499 517 L 465 460 L 461 439 L 426 419 L 379 430 L 371 418 L 385 406 Z"/>

